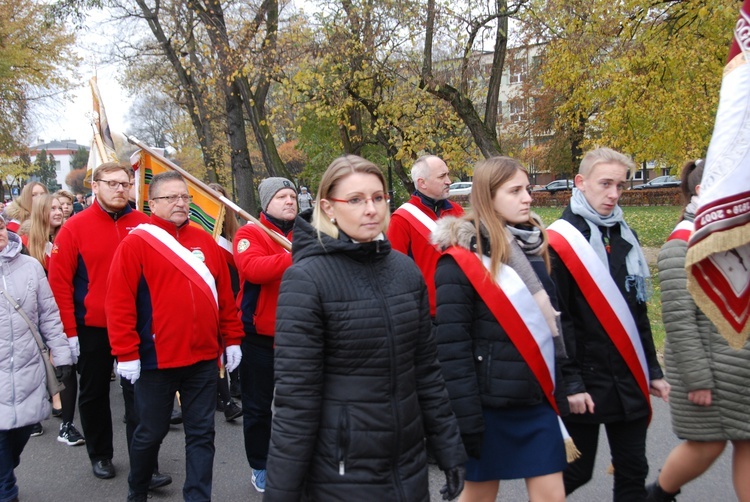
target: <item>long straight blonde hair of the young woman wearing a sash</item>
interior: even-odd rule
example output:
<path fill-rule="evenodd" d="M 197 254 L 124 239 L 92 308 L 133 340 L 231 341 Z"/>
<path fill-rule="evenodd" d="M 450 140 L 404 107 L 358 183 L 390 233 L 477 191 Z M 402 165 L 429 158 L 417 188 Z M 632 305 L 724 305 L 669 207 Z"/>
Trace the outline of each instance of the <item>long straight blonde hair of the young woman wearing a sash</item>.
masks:
<path fill-rule="evenodd" d="M 472 212 L 463 218 L 474 225 L 477 235 L 477 252 L 483 253 L 481 228 L 484 227 L 490 241 L 490 274 L 496 277 L 500 267 L 510 259 L 510 245 L 506 221 L 495 211 L 494 198 L 497 190 L 510 180 L 517 171 L 528 171 L 521 163 L 510 157 L 490 157 L 474 167 L 474 184 L 471 188 L 470 202 Z M 547 250 L 547 233 L 541 222 L 529 215 L 529 225 L 542 232 L 542 257 L 549 270 L 549 252 Z"/>

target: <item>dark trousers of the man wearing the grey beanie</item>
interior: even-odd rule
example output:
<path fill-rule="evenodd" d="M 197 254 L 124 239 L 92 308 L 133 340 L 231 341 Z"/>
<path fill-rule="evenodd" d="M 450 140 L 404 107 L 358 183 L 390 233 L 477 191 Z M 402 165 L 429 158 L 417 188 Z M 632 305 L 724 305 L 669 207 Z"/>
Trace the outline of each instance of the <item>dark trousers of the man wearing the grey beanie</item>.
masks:
<path fill-rule="evenodd" d="M 268 340 L 269 346 L 255 342 Z M 265 469 L 271 441 L 273 402 L 273 337 L 248 334 L 242 340 L 240 385 L 245 454 L 250 467 Z"/>

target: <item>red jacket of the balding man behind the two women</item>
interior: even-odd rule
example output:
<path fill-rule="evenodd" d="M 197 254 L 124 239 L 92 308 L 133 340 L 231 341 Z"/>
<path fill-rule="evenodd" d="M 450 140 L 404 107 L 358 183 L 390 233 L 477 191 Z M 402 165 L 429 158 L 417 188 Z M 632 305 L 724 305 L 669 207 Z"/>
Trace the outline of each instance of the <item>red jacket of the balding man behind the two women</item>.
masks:
<path fill-rule="evenodd" d="M 438 202 L 439 216 L 430 207 L 427 207 L 418 193 L 411 196 L 409 202 L 417 206 L 431 220 L 443 216 L 461 216 L 464 209 L 453 201 L 444 199 Z M 422 271 L 424 281 L 427 283 L 427 294 L 430 298 L 430 315 L 435 317 L 435 268 L 440 258 L 440 252 L 432 243 L 425 239 L 404 216 L 406 210 L 398 208 L 391 215 L 391 224 L 388 226 L 388 240 L 396 251 L 401 251 L 410 256 Z"/>

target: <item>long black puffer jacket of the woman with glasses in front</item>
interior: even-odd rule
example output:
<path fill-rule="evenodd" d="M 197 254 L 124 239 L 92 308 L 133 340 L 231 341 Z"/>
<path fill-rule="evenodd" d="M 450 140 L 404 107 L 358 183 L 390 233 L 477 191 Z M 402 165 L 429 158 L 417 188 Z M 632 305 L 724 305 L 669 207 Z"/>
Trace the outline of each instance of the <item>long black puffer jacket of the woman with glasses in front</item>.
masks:
<path fill-rule="evenodd" d="M 302 218 L 276 320 L 267 501 L 429 500 L 466 454 L 437 362 L 427 289 L 388 241 L 322 236 Z"/>

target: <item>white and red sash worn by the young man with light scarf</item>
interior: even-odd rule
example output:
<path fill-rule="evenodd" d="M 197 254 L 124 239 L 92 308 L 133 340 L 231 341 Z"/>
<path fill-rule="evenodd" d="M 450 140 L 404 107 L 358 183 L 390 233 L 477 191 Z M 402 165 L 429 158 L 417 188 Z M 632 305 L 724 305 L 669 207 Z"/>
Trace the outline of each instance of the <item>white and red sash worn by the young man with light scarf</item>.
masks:
<path fill-rule="evenodd" d="M 569 222 L 555 221 L 547 228 L 547 234 L 550 246 L 565 263 L 650 406 L 648 364 L 638 327 L 609 270 Z"/>

